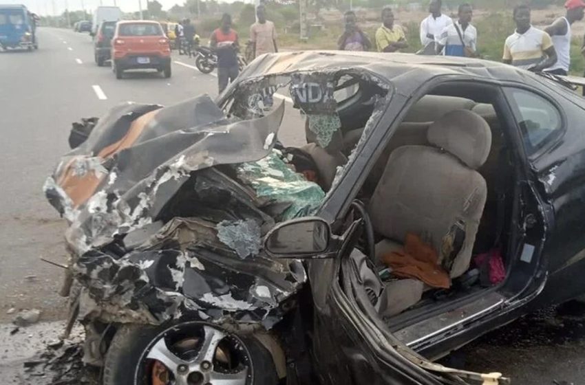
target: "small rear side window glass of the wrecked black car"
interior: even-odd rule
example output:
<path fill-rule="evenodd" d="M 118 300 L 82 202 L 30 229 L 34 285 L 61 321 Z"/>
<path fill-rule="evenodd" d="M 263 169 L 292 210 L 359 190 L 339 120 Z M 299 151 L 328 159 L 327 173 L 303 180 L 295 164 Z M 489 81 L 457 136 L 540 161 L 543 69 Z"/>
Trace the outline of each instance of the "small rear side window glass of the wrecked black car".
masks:
<path fill-rule="evenodd" d="M 518 124 L 528 148 L 539 148 L 547 137 L 561 128 L 560 112 L 548 100 L 523 89 L 511 89 L 510 95 L 517 106 Z"/>

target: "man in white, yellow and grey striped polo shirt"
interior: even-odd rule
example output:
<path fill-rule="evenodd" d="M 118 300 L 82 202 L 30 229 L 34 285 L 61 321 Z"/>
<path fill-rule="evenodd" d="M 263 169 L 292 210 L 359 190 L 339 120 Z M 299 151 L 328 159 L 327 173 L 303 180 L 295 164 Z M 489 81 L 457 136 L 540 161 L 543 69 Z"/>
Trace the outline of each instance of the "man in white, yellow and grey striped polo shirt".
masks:
<path fill-rule="evenodd" d="M 532 72 L 541 72 L 557 63 L 551 36 L 530 23 L 530 7 L 518 5 L 513 15 L 516 32 L 508 36 L 504 43 L 504 63 Z"/>

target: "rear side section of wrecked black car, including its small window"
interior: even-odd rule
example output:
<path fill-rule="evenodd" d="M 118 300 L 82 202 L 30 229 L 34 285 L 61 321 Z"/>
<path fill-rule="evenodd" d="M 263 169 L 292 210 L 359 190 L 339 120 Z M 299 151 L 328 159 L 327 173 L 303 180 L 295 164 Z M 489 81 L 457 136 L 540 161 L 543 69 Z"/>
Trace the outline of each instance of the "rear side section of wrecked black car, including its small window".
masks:
<path fill-rule="evenodd" d="M 524 141 L 549 229 L 543 245 L 549 282 L 540 304 L 585 293 L 584 100 L 546 79 L 538 88 L 504 87 Z"/>

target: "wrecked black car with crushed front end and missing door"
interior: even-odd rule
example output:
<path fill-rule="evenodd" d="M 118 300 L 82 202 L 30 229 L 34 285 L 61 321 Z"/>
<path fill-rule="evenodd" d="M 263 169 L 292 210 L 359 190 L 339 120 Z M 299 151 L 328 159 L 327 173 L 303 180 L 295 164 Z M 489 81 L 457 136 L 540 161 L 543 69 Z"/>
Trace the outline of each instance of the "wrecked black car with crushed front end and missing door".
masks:
<path fill-rule="evenodd" d="M 106 385 L 507 383 L 433 361 L 585 293 L 585 102 L 564 83 L 295 52 L 215 102 L 85 120 L 45 184 L 85 361 Z"/>

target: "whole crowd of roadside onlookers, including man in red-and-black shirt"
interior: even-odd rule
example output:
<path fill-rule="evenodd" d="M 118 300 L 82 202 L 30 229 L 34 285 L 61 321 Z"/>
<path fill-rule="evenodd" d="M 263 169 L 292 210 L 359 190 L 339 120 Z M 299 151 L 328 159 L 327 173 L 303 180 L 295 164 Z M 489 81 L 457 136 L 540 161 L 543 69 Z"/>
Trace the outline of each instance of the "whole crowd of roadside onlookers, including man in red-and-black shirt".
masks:
<path fill-rule="evenodd" d="M 478 54 L 478 30 L 471 24 L 473 8 L 468 3 L 458 7 L 458 19 L 443 14 L 441 0 L 430 0 L 429 16 L 421 21 L 421 44 L 417 54 L 480 57 Z M 534 72 L 566 75 L 571 66 L 571 25 L 584 17 L 584 0 L 567 0 L 566 15 L 540 30 L 531 25 L 529 5 L 513 9 L 516 29 L 503 42 L 502 61 Z M 408 47 L 405 32 L 394 23 L 392 8 L 381 12 L 382 25 L 376 30 L 374 42 L 357 23 L 355 12 L 344 14 L 345 29 L 339 36 L 339 50 L 377 52 L 401 52 Z M 220 92 L 238 75 L 237 52 L 240 50 L 237 32 L 231 28 L 231 16 L 224 14 L 220 28 L 211 34 L 211 47 L 217 53 L 217 78 Z M 191 23 L 182 23 L 177 36 L 187 34 Z M 179 35 L 181 34 L 181 35 Z M 193 28 L 192 34 L 195 34 Z M 480 32 L 479 32 L 480 34 Z M 253 56 L 277 52 L 277 33 L 273 22 L 266 19 L 266 6 L 256 7 L 256 22 L 250 27 Z M 585 54 L 585 46 L 582 48 Z"/>

